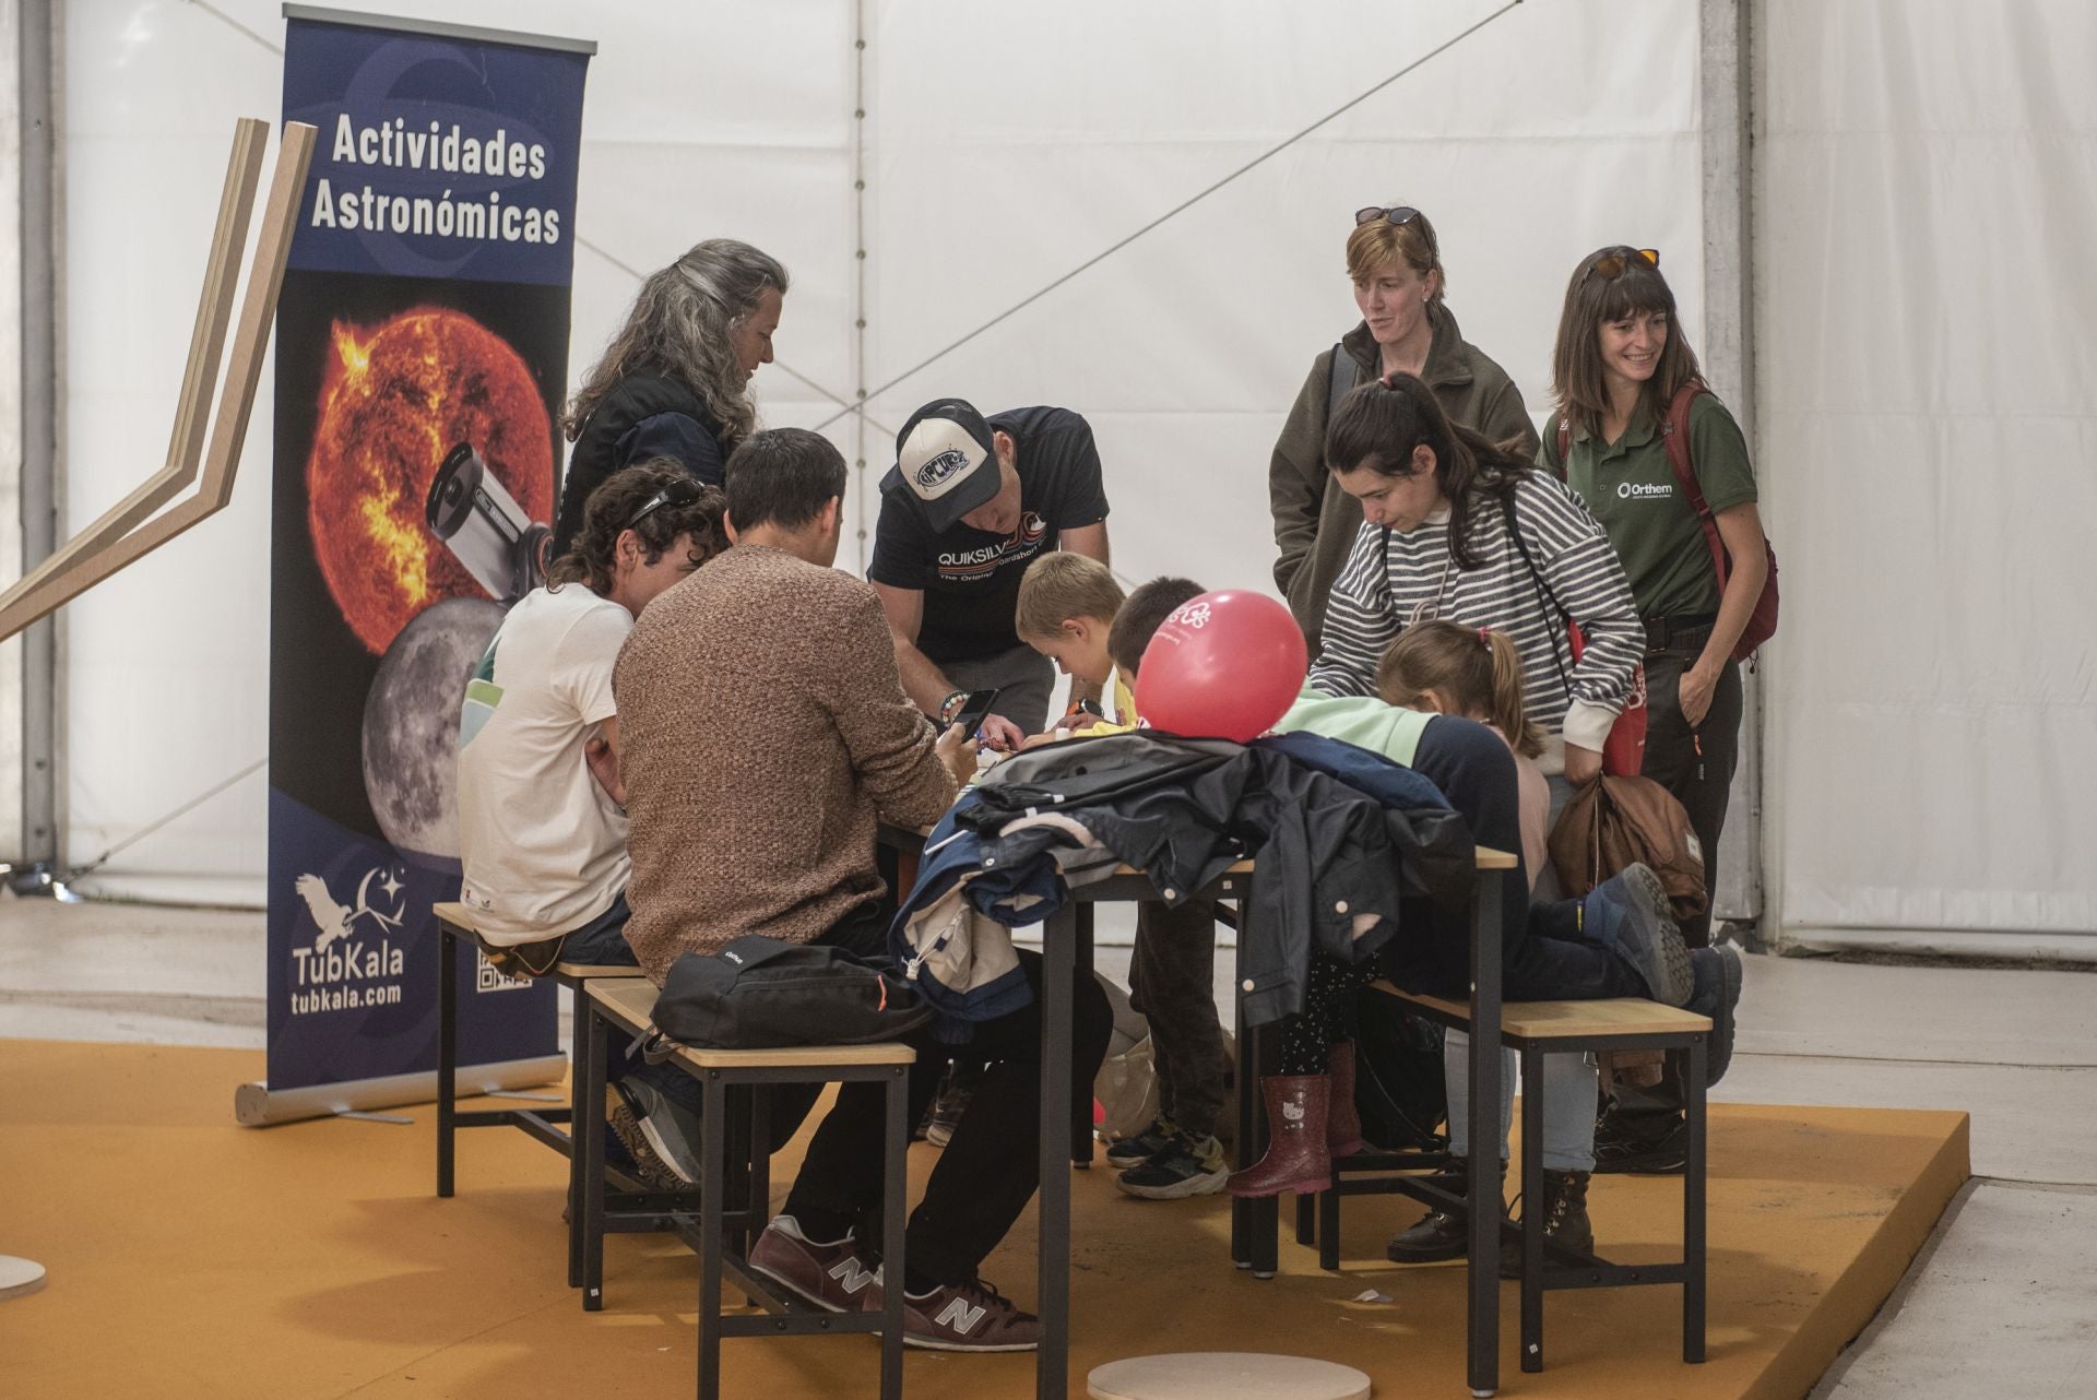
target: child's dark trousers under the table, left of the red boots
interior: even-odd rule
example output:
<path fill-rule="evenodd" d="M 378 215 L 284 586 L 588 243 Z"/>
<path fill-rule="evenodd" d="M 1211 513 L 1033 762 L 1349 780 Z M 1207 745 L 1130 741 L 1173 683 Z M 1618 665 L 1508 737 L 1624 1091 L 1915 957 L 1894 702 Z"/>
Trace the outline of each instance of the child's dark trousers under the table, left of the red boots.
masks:
<path fill-rule="evenodd" d="M 1227 1058 L 1216 1016 L 1216 901 L 1176 910 L 1137 905 L 1128 1002 L 1151 1023 L 1158 1107 L 1181 1132 L 1206 1138 L 1223 1117 Z"/>

